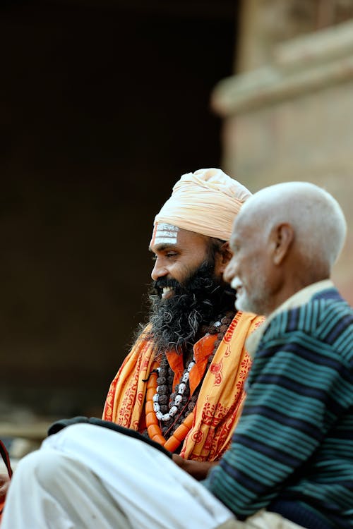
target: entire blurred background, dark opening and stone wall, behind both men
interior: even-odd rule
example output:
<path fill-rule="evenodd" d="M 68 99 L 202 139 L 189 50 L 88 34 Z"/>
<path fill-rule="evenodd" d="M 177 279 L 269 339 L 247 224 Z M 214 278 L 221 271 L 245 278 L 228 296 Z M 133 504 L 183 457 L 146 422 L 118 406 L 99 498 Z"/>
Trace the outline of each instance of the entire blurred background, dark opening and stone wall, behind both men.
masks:
<path fill-rule="evenodd" d="M 185 172 L 327 188 L 353 303 L 353 0 L 3 0 L 0 47 L 0 437 L 101 415 Z"/>

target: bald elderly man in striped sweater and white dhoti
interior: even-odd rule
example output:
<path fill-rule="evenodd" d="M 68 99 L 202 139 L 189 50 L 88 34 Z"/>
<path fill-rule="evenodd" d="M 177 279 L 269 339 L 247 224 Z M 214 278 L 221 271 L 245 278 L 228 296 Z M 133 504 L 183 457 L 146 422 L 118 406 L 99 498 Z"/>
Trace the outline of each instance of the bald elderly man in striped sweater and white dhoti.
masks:
<path fill-rule="evenodd" d="M 205 481 L 137 439 L 74 425 L 20 462 L 2 529 L 351 528 L 353 311 L 329 279 L 345 233 L 310 183 L 265 188 L 238 214 L 225 278 L 239 310 L 268 319 L 250 338 L 232 444 Z"/>

